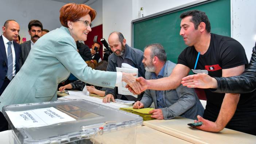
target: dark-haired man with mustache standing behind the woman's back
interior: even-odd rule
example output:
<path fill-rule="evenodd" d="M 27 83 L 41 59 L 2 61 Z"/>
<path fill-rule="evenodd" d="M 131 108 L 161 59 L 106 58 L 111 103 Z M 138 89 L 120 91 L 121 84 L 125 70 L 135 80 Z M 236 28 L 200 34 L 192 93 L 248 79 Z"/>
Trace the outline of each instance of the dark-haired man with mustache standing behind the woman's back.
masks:
<path fill-rule="evenodd" d="M 21 57 L 20 57 L 20 67 L 26 61 L 31 48 L 34 46 L 35 42 L 42 36 L 43 24 L 39 20 L 31 20 L 28 23 L 28 33 L 31 36 L 31 40 L 20 44 L 22 47 Z"/>

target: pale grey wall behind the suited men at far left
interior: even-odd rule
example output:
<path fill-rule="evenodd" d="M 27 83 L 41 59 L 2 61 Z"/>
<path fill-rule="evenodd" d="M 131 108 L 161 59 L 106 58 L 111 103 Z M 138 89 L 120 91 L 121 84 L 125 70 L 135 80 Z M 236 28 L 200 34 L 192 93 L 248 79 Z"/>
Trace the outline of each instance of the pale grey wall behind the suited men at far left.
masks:
<path fill-rule="evenodd" d="M 43 28 L 54 30 L 61 26 L 59 22 L 59 9 L 66 3 L 51 0 L 1 0 L 0 26 L 8 19 L 16 20 L 20 25 L 20 37 L 30 40 L 28 23 L 37 19 Z M 2 29 L 1 29 L 2 32 Z"/>

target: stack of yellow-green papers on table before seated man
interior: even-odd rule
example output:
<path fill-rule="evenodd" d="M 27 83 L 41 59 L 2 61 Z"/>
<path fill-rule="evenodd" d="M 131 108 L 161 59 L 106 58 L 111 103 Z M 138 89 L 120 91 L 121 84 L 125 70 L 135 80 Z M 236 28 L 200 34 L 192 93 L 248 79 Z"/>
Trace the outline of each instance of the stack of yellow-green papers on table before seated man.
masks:
<path fill-rule="evenodd" d="M 126 112 L 138 114 L 143 118 L 143 121 L 148 121 L 148 120 L 154 120 L 155 118 L 151 118 L 152 114 L 149 114 L 151 110 L 154 108 L 144 108 L 144 109 L 133 109 L 133 108 L 120 108 L 120 110 L 124 110 Z"/>

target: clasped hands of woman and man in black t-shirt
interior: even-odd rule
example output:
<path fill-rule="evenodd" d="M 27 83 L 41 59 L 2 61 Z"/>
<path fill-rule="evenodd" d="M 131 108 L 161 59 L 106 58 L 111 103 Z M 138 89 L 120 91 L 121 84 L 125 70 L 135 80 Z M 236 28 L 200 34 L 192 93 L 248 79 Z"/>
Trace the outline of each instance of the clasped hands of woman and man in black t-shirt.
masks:
<path fill-rule="evenodd" d="M 147 89 L 147 81 L 143 77 L 136 78 L 131 73 L 122 73 L 122 81 L 126 82 L 126 88 L 133 94 L 140 94 Z"/>

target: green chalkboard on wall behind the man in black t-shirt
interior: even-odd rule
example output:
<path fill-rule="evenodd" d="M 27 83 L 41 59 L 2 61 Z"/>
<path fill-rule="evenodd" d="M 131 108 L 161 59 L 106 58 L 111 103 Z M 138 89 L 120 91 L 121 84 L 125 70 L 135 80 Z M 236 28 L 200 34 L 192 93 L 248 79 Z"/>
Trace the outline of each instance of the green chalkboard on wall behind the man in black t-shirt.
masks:
<path fill-rule="evenodd" d="M 167 59 L 177 63 L 179 54 L 187 47 L 179 35 L 179 16 L 182 12 L 193 9 L 206 13 L 212 33 L 230 36 L 230 0 L 216 0 L 133 22 L 133 47 L 143 51 L 148 44 L 160 43 L 166 50 Z"/>

